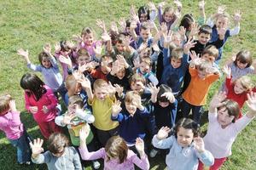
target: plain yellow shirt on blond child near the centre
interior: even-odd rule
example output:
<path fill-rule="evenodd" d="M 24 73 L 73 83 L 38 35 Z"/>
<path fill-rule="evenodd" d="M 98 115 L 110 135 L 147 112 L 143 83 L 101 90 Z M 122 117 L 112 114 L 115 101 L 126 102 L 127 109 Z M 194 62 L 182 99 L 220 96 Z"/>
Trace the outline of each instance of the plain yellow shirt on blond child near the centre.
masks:
<path fill-rule="evenodd" d="M 112 105 L 115 101 L 115 97 L 106 97 L 104 100 L 99 100 L 94 97 L 92 100 L 88 100 L 89 105 L 92 107 L 92 114 L 95 116 L 95 122 L 93 125 L 100 130 L 111 130 L 119 126 L 119 122 L 113 122 L 111 120 Z"/>

